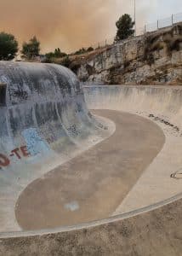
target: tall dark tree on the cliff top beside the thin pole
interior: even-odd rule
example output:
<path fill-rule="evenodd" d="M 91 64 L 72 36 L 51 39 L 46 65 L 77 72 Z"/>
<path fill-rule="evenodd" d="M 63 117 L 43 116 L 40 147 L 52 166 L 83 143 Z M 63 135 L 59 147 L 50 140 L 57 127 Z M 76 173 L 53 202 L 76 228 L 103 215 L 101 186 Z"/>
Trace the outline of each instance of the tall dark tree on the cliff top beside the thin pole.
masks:
<path fill-rule="evenodd" d="M 134 21 L 130 15 L 122 15 L 116 22 L 117 26 L 117 36 L 115 38 L 115 42 L 126 39 L 132 35 L 134 35 Z"/>

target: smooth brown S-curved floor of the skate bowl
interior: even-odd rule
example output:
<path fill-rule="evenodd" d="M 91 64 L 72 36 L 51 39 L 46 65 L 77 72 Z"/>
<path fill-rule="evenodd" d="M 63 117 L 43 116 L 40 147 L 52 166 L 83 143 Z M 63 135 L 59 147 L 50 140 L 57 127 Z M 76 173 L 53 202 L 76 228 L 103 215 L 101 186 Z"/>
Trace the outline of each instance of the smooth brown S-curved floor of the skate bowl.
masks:
<path fill-rule="evenodd" d="M 111 119 L 116 131 L 26 187 L 15 210 L 23 230 L 110 217 L 161 151 L 165 137 L 151 120 L 113 110 L 94 113 Z"/>

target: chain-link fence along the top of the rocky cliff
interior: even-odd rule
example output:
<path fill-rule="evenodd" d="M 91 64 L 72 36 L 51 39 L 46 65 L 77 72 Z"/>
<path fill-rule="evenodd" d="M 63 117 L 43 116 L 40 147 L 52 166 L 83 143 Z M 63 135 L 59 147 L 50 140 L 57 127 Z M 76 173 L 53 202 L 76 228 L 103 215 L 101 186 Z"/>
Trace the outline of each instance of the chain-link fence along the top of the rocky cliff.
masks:
<path fill-rule="evenodd" d="M 168 18 L 162 19 L 162 20 L 156 20 L 156 22 L 148 23 L 143 27 L 137 27 L 136 28 L 136 36 L 141 36 L 145 34 L 146 32 L 154 32 L 157 31 L 160 28 L 173 26 L 176 23 L 182 22 L 182 13 L 171 15 Z M 103 41 L 100 41 L 96 44 L 88 45 L 87 47 L 84 47 L 87 49 L 89 46 L 92 46 L 94 49 L 100 49 L 103 47 L 106 47 L 108 45 L 114 44 L 114 38 L 107 38 Z"/>

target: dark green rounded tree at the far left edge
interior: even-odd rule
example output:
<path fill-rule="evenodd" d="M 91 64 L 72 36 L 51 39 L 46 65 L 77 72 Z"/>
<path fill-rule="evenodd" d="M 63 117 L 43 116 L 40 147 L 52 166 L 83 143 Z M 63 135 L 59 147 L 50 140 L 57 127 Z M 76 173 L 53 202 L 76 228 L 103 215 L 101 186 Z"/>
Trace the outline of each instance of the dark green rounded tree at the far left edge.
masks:
<path fill-rule="evenodd" d="M 13 60 L 17 52 L 18 42 L 14 38 L 14 35 L 6 32 L 0 32 L 0 60 Z"/>

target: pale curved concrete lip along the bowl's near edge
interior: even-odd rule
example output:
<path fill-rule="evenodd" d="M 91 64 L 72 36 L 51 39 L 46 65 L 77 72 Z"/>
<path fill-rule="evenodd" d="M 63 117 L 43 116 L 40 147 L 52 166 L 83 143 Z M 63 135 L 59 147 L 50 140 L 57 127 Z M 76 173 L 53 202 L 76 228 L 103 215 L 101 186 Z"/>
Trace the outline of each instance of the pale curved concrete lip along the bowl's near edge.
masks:
<path fill-rule="evenodd" d="M 69 231 L 71 232 L 74 230 L 88 229 L 88 228 L 97 227 L 97 226 L 100 226 L 103 224 L 110 224 L 110 223 L 114 223 L 117 221 L 121 221 L 126 218 L 132 218 L 134 216 L 140 215 L 145 212 L 155 211 L 158 208 L 162 208 L 167 205 L 172 205 L 173 202 L 181 201 L 181 199 L 182 199 L 182 193 L 179 193 L 178 195 L 174 195 L 171 198 L 168 198 L 164 201 L 157 202 L 156 204 L 150 205 L 148 207 L 139 208 L 132 212 L 122 213 L 117 216 L 113 216 L 111 218 L 100 219 L 100 220 L 96 220 L 96 221 L 85 223 L 85 224 L 62 226 L 62 227 L 58 227 L 55 229 L 48 229 L 48 230 L 3 232 L 3 233 L 0 233 L 0 239 L 14 238 L 14 237 L 43 236 L 43 235 L 49 235 L 49 234 L 53 235 L 53 234 L 64 233 L 64 232 L 69 232 Z"/>

